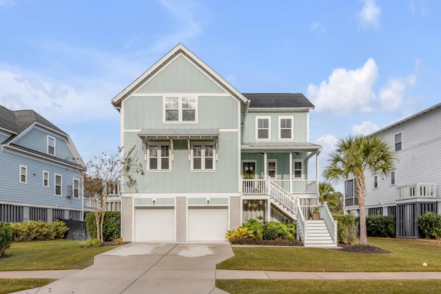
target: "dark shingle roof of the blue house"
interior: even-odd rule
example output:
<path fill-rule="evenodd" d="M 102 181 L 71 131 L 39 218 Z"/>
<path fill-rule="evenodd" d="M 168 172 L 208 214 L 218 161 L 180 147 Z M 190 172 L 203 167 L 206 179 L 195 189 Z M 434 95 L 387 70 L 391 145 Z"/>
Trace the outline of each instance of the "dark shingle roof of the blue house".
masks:
<path fill-rule="evenodd" d="M 3 129 L 8 129 L 11 132 L 19 134 L 35 122 L 67 135 L 61 129 L 50 123 L 49 120 L 43 118 L 43 116 L 37 114 L 37 112 L 34 112 L 34 110 L 12 111 L 0 105 L 0 127 Z"/>

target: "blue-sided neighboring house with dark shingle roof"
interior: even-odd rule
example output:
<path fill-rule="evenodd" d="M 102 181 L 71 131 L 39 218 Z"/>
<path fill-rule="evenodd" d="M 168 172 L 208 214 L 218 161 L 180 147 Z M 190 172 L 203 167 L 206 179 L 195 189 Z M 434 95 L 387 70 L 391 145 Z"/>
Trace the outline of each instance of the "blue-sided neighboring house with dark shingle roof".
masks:
<path fill-rule="evenodd" d="M 33 110 L 0 106 L 0 221 L 83 220 L 80 171 L 68 134 Z"/>

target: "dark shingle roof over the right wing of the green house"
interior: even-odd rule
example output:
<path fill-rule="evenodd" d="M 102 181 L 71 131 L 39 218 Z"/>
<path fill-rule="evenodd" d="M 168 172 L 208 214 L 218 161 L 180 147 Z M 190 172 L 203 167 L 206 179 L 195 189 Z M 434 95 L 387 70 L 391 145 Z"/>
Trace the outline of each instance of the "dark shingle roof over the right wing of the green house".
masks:
<path fill-rule="evenodd" d="M 252 108 L 314 108 L 303 94 L 292 93 L 242 93 L 251 100 Z"/>

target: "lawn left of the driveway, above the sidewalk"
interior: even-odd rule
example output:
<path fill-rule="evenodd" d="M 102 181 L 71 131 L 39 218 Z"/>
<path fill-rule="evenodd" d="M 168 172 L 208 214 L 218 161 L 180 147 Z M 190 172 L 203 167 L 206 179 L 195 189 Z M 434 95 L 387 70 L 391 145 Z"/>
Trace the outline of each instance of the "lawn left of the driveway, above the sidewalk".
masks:
<path fill-rule="evenodd" d="M 0 258 L 0 271 L 41 271 L 84 269 L 94 256 L 116 246 L 81 248 L 83 242 L 71 240 L 12 243 L 8 258 Z"/>

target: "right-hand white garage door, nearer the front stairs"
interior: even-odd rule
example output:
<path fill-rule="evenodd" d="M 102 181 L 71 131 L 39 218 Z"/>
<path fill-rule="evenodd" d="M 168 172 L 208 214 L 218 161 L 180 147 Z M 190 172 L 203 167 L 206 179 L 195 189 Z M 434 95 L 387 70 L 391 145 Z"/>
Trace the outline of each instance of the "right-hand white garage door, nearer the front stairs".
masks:
<path fill-rule="evenodd" d="M 227 207 L 189 207 L 189 241 L 225 240 L 227 229 Z"/>

